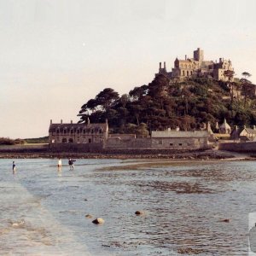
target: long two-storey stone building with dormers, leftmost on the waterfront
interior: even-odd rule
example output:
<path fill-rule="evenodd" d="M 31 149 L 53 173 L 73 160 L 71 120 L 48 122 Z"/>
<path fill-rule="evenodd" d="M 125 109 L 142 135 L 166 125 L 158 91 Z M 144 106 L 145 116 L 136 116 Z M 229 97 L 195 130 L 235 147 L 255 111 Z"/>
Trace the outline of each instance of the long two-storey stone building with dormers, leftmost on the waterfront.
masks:
<path fill-rule="evenodd" d="M 108 138 L 108 121 L 104 124 L 57 123 L 50 120 L 49 144 L 54 143 L 104 143 Z"/>

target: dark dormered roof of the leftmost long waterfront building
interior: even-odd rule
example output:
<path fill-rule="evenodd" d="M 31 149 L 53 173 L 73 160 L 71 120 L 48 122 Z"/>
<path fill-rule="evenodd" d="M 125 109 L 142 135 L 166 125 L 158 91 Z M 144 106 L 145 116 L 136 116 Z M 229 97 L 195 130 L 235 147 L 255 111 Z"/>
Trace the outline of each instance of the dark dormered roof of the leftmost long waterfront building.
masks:
<path fill-rule="evenodd" d="M 49 125 L 49 132 L 54 132 L 56 129 L 77 129 L 77 130 L 84 130 L 84 129 L 102 129 L 102 131 L 107 131 L 108 124 L 50 124 Z"/>

